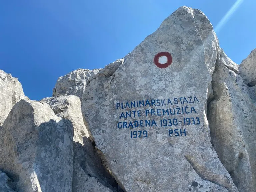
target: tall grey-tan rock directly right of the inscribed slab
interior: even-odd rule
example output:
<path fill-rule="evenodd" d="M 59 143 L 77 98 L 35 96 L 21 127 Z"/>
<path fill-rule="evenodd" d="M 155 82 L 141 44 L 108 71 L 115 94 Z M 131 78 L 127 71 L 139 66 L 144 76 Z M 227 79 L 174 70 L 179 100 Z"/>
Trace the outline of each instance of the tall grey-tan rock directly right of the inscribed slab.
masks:
<path fill-rule="evenodd" d="M 256 100 L 236 73 L 238 65 L 221 51 L 213 73 L 214 100 L 208 107 L 211 141 L 241 192 L 256 189 Z"/>

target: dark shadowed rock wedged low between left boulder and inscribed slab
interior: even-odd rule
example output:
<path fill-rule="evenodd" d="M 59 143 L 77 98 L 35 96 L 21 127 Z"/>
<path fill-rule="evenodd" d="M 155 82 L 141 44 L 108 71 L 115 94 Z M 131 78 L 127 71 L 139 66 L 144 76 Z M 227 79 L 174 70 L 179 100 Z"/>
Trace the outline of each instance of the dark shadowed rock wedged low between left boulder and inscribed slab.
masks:
<path fill-rule="evenodd" d="M 117 183 L 101 163 L 89 139 L 84 145 L 74 143 L 72 192 L 116 192 Z"/>

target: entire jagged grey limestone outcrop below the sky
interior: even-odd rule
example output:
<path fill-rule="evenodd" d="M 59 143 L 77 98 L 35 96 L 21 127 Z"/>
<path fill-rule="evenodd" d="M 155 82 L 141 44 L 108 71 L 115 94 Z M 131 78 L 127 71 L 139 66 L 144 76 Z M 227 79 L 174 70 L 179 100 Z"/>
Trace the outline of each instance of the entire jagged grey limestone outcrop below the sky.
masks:
<path fill-rule="evenodd" d="M 40 102 L 0 71 L 0 190 L 254 192 L 255 50 L 235 64 L 208 18 L 181 7 Z"/>

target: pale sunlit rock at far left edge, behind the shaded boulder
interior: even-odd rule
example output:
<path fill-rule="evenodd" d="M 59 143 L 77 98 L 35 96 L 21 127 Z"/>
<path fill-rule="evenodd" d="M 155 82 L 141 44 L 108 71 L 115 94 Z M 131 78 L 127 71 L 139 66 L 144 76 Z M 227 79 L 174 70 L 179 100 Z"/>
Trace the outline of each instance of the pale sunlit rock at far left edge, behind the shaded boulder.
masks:
<path fill-rule="evenodd" d="M 21 99 L 25 99 L 21 83 L 11 74 L 0 70 L 0 127 L 12 107 Z"/>

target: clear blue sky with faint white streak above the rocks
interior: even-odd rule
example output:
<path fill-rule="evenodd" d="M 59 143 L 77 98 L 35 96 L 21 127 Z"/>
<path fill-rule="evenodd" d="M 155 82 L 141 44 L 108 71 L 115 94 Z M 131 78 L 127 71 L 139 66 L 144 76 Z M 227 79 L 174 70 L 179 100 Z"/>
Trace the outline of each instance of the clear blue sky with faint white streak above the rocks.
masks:
<path fill-rule="evenodd" d="M 0 0 L 0 69 L 30 99 L 50 97 L 59 76 L 124 57 L 183 5 L 206 14 L 237 64 L 256 48 L 255 0 Z"/>

